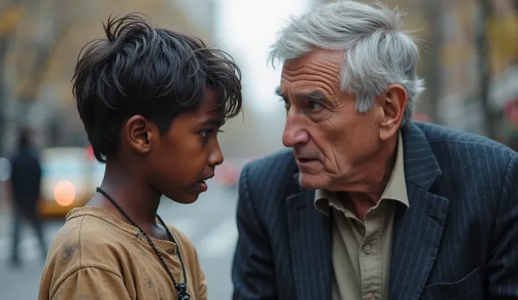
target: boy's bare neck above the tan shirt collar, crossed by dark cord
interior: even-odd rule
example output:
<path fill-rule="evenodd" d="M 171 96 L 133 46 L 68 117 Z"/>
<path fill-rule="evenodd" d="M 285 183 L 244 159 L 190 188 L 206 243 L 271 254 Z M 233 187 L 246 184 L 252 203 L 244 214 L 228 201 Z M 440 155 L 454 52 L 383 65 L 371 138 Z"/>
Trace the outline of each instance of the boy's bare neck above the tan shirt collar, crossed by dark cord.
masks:
<path fill-rule="evenodd" d="M 116 163 L 107 163 L 101 189 L 108 193 L 135 223 L 144 230 L 151 229 L 150 227 L 157 225 L 156 211 L 161 195 L 137 174 L 125 168 L 118 168 Z M 103 197 L 100 194 L 99 196 Z M 127 218 L 108 199 L 101 200 L 101 207 L 127 221 Z"/>

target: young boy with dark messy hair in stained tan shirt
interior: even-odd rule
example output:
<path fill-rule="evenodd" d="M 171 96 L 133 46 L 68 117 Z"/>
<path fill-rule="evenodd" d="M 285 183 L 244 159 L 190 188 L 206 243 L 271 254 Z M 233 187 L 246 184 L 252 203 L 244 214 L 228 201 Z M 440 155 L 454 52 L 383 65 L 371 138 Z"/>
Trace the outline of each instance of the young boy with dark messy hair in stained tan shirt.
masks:
<path fill-rule="evenodd" d="M 223 161 L 217 132 L 241 111 L 239 68 L 139 15 L 104 30 L 77 62 L 73 92 L 106 173 L 56 235 L 39 299 L 207 299 L 194 246 L 156 211 L 162 195 L 189 204 L 207 190 Z"/>

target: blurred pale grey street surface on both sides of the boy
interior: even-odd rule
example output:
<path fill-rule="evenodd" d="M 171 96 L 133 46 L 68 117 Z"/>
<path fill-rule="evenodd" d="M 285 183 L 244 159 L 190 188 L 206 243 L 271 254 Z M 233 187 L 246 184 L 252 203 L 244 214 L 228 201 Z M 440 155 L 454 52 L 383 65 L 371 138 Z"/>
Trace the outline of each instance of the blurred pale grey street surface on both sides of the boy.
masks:
<path fill-rule="evenodd" d="M 235 225 L 236 192 L 209 185 L 208 192 L 201 194 L 198 201 L 189 206 L 163 199 L 158 210 L 166 223 L 182 230 L 198 250 L 201 266 L 208 280 L 208 299 L 230 299 L 232 283 L 230 266 L 237 238 Z M 8 265 L 11 254 L 11 216 L 0 214 L 0 299 L 37 299 L 39 277 L 43 261 L 39 256 L 37 239 L 31 228 L 24 228 L 20 244 L 23 266 L 13 269 Z M 63 221 L 46 223 L 46 241 L 63 225 Z"/>

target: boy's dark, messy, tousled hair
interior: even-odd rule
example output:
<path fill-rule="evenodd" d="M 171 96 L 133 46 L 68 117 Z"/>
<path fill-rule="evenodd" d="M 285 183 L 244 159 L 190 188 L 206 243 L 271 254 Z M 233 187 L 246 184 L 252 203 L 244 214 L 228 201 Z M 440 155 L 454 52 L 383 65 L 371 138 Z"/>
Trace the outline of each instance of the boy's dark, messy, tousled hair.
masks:
<path fill-rule="evenodd" d="M 72 77 L 98 161 L 116 155 L 123 120 L 143 115 L 163 134 L 177 115 L 198 108 L 207 88 L 217 92 L 225 118 L 241 111 L 241 71 L 224 51 L 153 28 L 138 13 L 110 17 L 103 29 L 106 38 L 82 49 Z"/>

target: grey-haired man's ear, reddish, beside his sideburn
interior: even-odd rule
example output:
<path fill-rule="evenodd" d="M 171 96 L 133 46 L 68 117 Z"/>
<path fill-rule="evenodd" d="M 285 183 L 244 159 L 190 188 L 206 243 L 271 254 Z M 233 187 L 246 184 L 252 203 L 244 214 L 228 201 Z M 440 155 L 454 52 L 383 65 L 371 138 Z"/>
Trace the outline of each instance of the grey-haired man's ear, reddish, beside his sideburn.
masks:
<path fill-rule="evenodd" d="M 408 94 L 402 85 L 389 85 L 380 95 L 383 117 L 379 124 L 379 138 L 387 140 L 396 135 L 407 106 Z"/>

